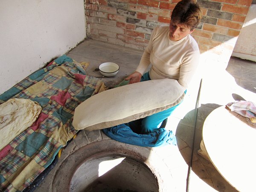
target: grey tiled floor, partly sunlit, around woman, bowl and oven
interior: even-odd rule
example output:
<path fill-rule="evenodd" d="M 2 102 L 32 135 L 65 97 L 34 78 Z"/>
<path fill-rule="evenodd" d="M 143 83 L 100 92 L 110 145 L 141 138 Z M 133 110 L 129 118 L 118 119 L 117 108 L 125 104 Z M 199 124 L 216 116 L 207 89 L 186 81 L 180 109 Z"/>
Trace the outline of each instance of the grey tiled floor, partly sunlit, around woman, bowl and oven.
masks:
<path fill-rule="evenodd" d="M 134 72 L 140 62 L 142 53 L 138 50 L 87 39 L 68 52 L 67 55 L 78 62 L 89 62 L 90 65 L 87 68 L 87 74 L 99 77 L 108 87 L 113 87 L 130 73 Z M 99 64 L 108 61 L 119 64 L 119 73 L 114 77 L 102 78 L 97 68 Z M 197 151 L 200 148 L 203 123 L 209 113 L 221 105 L 238 100 L 236 98 L 239 96 L 245 100 L 255 101 L 255 71 L 256 64 L 254 62 L 239 58 L 231 57 L 227 67 L 218 69 L 202 62 L 184 102 L 177 109 L 174 116 L 168 118 L 166 128 L 176 132 L 177 146 L 144 148 L 150 153 L 150 155 L 148 154 L 148 158 L 155 156 L 160 159 L 160 162 L 158 162 L 160 165 L 163 164 L 168 168 L 172 175 L 172 184 L 175 185 L 174 188 L 177 192 L 186 191 L 186 179 L 195 126 L 195 101 L 201 79 L 203 81 L 198 107 L 198 120 L 195 129 L 195 148 L 189 189 L 190 192 L 236 192 L 236 189 L 221 177 L 212 163 L 198 155 Z M 61 185 L 60 178 L 68 177 L 68 173 L 66 173 L 66 175 L 58 176 L 58 179 L 56 179 L 56 174 L 63 168 L 63 164 L 67 163 L 65 160 L 68 160 L 69 157 L 85 145 L 97 144 L 97 142 L 100 143 L 105 140 L 110 141 L 101 131 L 81 131 L 63 150 L 57 165 L 35 191 L 58 191 L 59 188 L 57 185 Z M 115 143 L 115 141 L 111 142 Z M 217 138 L 216 142 L 218 142 Z M 122 145 L 124 148 L 130 148 L 133 151 L 139 151 L 139 153 L 144 150 L 134 145 L 120 144 L 118 142 L 116 142 L 116 145 Z M 163 182 L 169 181 L 166 180 Z"/>

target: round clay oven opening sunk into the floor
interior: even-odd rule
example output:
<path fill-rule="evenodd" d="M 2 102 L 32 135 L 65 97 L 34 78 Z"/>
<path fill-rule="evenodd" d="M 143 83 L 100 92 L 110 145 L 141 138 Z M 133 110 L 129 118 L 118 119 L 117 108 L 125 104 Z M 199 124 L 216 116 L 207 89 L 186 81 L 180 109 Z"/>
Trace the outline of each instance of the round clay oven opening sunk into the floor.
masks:
<path fill-rule="evenodd" d="M 148 166 L 133 157 L 98 154 L 78 167 L 70 191 L 158 192 L 158 182 Z"/>

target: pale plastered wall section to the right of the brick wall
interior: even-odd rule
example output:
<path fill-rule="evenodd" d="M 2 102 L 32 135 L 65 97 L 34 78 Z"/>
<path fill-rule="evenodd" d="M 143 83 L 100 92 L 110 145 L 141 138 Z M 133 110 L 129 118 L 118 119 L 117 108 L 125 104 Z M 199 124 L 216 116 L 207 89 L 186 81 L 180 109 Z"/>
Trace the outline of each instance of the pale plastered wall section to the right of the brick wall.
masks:
<path fill-rule="evenodd" d="M 256 61 L 256 4 L 250 6 L 232 56 Z"/>

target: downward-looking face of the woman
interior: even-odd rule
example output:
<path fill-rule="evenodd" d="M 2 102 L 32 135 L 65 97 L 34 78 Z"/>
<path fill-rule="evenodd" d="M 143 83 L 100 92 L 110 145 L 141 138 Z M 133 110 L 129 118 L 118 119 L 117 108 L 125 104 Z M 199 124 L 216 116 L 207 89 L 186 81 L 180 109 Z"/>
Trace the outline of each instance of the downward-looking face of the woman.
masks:
<path fill-rule="evenodd" d="M 179 41 L 180 39 L 186 37 L 187 35 L 189 35 L 194 31 L 194 29 L 190 30 L 185 25 L 178 24 L 178 23 L 176 24 L 172 20 L 170 21 L 169 28 L 170 28 L 169 37 L 172 41 Z"/>

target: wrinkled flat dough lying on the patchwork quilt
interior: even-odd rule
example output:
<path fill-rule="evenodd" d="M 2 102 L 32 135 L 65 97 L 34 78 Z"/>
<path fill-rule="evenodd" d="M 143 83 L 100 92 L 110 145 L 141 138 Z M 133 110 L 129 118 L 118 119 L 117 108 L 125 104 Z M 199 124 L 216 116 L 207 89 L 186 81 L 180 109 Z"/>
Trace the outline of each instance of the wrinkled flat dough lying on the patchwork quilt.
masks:
<path fill-rule="evenodd" d="M 9 99 L 0 105 L 0 149 L 38 118 L 41 106 L 30 99 Z"/>

